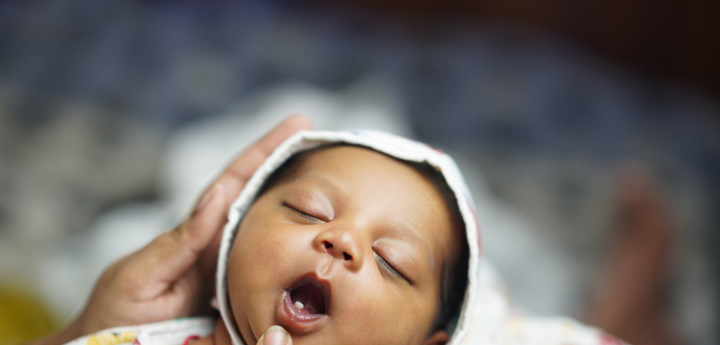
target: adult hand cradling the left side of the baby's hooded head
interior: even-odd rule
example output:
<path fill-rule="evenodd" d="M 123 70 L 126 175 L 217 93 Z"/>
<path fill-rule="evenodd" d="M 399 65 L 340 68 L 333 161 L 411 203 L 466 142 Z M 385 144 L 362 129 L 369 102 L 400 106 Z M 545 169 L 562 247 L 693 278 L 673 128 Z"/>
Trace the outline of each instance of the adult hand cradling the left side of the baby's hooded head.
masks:
<path fill-rule="evenodd" d="M 291 116 L 253 144 L 208 188 L 186 221 L 108 268 L 81 315 L 37 344 L 60 344 L 109 327 L 209 311 L 230 202 L 280 143 L 310 128 L 307 118 Z"/>

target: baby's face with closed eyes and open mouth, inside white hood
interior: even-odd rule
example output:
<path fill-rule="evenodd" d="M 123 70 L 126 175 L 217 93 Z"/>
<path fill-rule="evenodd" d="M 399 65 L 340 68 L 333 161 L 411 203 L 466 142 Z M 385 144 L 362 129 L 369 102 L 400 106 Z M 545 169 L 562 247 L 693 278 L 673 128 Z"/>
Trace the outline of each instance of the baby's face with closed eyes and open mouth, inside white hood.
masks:
<path fill-rule="evenodd" d="M 271 325 L 302 344 L 443 343 L 430 334 L 450 212 L 412 167 L 350 146 L 311 151 L 243 218 L 232 311 L 255 344 Z"/>

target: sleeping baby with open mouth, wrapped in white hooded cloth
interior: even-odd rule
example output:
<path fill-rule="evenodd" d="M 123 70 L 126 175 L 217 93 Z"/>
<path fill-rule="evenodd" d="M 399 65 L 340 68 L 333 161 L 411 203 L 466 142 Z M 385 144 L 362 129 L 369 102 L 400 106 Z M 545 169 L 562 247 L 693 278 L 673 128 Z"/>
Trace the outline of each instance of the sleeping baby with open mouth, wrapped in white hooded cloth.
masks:
<path fill-rule="evenodd" d="M 281 326 L 298 345 L 621 344 L 566 318 L 517 313 L 479 258 L 473 203 L 449 156 L 380 132 L 303 131 L 230 208 L 213 301 L 221 320 L 72 343 L 267 344 Z"/>

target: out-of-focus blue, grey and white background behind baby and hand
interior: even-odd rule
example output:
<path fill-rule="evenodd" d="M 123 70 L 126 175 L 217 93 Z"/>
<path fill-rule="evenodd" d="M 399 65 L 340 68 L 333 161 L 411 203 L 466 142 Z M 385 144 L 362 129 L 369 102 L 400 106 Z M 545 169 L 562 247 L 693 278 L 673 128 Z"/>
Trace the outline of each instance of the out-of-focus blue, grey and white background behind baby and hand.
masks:
<path fill-rule="evenodd" d="M 453 154 L 525 310 L 720 344 L 718 18 L 710 0 L 1 2 L 0 343 L 72 319 L 303 112 Z"/>

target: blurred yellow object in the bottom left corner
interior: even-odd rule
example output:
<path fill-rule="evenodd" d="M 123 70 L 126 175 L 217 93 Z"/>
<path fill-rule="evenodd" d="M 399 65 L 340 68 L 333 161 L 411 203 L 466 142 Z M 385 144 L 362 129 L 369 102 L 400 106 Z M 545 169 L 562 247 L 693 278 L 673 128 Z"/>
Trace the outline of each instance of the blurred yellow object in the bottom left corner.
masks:
<path fill-rule="evenodd" d="M 47 305 L 28 290 L 0 285 L 0 345 L 27 342 L 57 328 Z"/>

